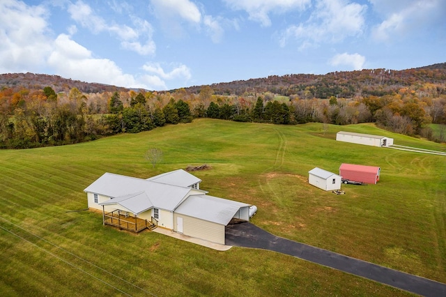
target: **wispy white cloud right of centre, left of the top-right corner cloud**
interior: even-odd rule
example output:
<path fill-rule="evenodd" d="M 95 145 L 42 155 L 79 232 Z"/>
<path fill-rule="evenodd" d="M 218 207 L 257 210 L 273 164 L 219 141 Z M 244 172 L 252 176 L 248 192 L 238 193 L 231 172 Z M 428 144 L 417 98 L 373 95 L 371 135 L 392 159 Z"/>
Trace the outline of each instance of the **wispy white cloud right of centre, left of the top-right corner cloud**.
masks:
<path fill-rule="evenodd" d="M 295 38 L 302 49 L 360 35 L 366 9 L 367 6 L 348 0 L 318 0 L 307 22 L 289 26 L 282 33 L 280 44 L 284 46 L 290 38 Z"/>

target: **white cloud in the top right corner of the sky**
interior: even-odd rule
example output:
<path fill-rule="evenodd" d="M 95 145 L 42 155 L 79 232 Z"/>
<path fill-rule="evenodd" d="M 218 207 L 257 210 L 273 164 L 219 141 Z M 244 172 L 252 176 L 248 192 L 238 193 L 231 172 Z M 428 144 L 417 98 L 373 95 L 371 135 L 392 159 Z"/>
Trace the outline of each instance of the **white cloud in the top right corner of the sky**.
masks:
<path fill-rule="evenodd" d="M 444 0 L 369 0 L 383 22 L 374 26 L 375 40 L 387 41 L 414 33 L 445 28 L 446 1 Z M 429 30 L 429 29 L 428 29 Z M 441 30 L 441 29 L 440 29 Z"/>

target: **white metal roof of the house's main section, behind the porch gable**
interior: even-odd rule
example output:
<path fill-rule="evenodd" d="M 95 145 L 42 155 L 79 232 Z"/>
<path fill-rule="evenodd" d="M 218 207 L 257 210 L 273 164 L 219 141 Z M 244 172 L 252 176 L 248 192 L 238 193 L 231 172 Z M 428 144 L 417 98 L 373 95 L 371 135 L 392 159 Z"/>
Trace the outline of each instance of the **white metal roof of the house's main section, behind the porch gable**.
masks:
<path fill-rule="evenodd" d="M 130 176 L 123 176 L 118 174 L 105 173 L 91 185 L 89 185 L 84 192 L 92 192 L 99 195 L 111 197 L 110 202 L 121 201 L 114 200 L 118 197 L 126 197 L 132 195 L 132 193 L 145 192 L 148 199 L 152 202 L 153 206 L 156 208 L 162 208 L 167 211 L 174 211 L 176 206 L 189 195 L 192 190 L 187 187 L 180 187 L 178 185 L 167 185 L 164 183 L 156 183 L 154 181 L 147 181 L 142 178 L 134 178 Z M 130 198 L 128 198 L 130 199 Z M 141 197 L 134 199 L 136 201 L 141 201 Z M 129 202 L 127 202 L 129 203 Z M 133 202 L 131 205 L 134 205 Z M 141 206 L 144 207 L 144 206 Z M 128 208 L 134 213 L 139 212 L 139 207 L 134 209 Z"/>

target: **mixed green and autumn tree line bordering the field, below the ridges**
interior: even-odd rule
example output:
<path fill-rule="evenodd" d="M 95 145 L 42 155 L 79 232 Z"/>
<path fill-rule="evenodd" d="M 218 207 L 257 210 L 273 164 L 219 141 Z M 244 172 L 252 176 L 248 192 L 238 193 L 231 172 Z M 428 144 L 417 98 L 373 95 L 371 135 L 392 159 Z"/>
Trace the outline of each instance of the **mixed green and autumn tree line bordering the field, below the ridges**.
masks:
<path fill-rule="evenodd" d="M 222 96 L 210 86 L 203 86 L 199 93 L 185 89 L 173 93 L 82 93 L 77 88 L 56 93 L 50 86 L 34 91 L 3 88 L 0 148 L 74 144 L 203 117 L 280 125 L 371 122 L 394 132 L 444 142 L 444 135 L 435 139 L 426 124 L 446 124 L 446 96 L 432 95 L 429 85 L 423 90 L 425 96 L 420 96 L 420 91 L 401 88 L 385 96 L 321 99 L 316 95 L 285 97 L 270 92 Z"/>

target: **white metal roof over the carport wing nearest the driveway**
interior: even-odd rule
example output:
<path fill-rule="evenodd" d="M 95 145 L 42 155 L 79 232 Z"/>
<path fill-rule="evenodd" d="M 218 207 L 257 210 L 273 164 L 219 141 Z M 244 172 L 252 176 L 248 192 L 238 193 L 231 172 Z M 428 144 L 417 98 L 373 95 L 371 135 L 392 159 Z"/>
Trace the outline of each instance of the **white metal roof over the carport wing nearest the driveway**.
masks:
<path fill-rule="evenodd" d="M 208 195 L 190 195 L 175 212 L 226 226 L 241 207 L 249 206 L 251 204 Z"/>

